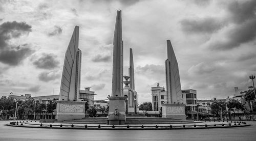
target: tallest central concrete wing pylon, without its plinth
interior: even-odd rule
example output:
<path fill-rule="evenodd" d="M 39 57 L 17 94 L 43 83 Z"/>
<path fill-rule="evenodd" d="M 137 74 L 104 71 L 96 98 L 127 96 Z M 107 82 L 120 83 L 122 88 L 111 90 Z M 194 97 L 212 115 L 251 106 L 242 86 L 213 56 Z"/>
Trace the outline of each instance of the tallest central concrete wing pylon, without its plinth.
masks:
<path fill-rule="evenodd" d="M 123 41 L 121 10 L 117 11 L 113 45 L 112 96 L 123 96 Z"/>

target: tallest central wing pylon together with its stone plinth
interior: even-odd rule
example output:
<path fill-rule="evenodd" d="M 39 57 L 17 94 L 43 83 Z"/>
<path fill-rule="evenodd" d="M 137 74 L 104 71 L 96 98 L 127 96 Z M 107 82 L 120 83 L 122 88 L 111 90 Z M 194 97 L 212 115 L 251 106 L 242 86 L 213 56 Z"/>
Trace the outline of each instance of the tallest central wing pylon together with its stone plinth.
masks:
<path fill-rule="evenodd" d="M 113 42 L 112 95 L 108 97 L 110 125 L 125 123 L 125 100 L 123 96 L 123 41 L 121 11 L 117 11 Z"/>

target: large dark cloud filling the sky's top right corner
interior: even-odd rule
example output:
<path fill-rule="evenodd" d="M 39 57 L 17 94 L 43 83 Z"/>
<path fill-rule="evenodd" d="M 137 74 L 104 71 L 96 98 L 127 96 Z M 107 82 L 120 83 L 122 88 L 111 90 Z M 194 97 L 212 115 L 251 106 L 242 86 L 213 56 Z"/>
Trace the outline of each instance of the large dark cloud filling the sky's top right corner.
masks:
<path fill-rule="evenodd" d="M 229 50 L 256 37 L 256 1 L 231 1 L 227 5 L 229 26 L 207 43 L 211 49 Z M 220 38 L 221 37 L 221 38 Z M 220 38 L 220 39 L 219 39 Z"/>

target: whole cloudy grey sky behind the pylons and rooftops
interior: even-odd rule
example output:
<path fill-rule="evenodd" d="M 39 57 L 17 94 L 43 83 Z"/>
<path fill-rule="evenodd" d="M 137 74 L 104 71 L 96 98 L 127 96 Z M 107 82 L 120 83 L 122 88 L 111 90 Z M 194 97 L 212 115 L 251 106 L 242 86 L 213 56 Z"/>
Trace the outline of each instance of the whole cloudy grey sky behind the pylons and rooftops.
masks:
<path fill-rule="evenodd" d="M 81 88 L 111 94 L 116 11 L 122 10 L 124 75 L 133 48 L 139 103 L 165 86 L 166 40 L 179 63 L 181 88 L 198 99 L 226 98 L 256 74 L 256 1 L 2 1 L 0 96 L 59 94 L 64 55 L 80 26 Z"/>

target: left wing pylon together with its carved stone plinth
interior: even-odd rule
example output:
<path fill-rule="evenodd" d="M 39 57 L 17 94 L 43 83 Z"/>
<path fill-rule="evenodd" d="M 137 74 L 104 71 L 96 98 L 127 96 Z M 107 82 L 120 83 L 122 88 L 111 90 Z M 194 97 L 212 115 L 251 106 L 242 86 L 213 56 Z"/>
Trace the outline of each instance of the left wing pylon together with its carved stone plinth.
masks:
<path fill-rule="evenodd" d="M 81 50 L 78 48 L 79 26 L 75 26 L 66 50 L 63 65 L 59 100 L 57 101 L 57 121 L 82 119 L 85 117 L 85 101 L 77 101 L 80 89 Z"/>

